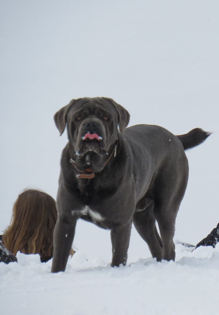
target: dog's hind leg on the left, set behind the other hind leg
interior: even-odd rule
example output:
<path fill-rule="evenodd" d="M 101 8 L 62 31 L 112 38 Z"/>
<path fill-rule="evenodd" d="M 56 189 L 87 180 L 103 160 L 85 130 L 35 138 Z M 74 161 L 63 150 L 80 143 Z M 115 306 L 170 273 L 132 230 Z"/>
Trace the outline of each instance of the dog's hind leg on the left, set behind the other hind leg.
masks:
<path fill-rule="evenodd" d="M 153 209 L 154 203 L 151 200 L 151 203 L 146 209 L 135 212 L 133 223 L 139 235 L 147 243 L 152 257 L 160 261 L 162 259 L 162 241 L 157 232 Z"/>

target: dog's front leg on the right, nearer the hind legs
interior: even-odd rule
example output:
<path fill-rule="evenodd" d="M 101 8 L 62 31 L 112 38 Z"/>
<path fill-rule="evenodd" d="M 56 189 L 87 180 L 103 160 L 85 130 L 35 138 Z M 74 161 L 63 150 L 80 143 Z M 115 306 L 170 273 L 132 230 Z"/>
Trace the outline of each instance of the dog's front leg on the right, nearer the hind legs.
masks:
<path fill-rule="evenodd" d="M 118 267 L 120 264 L 126 265 L 131 227 L 132 222 L 129 222 L 127 225 L 116 226 L 111 229 L 112 267 Z"/>

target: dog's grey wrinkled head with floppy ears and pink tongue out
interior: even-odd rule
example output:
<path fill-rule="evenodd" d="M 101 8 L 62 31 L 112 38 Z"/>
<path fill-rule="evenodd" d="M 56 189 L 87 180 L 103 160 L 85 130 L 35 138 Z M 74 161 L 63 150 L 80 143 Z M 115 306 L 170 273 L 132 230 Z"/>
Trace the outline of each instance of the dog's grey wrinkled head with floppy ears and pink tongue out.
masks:
<path fill-rule="evenodd" d="M 84 97 L 71 100 L 56 112 L 54 120 L 60 135 L 67 125 L 77 169 L 100 172 L 115 145 L 118 126 L 121 133 L 127 127 L 129 113 L 110 98 Z"/>

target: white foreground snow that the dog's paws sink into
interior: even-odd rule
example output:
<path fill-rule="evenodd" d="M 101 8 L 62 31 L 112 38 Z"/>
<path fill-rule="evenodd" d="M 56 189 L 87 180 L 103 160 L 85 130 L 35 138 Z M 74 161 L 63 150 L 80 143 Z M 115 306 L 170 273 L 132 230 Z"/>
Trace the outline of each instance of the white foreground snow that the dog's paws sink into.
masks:
<path fill-rule="evenodd" d="M 0 264 L 2 314 L 216 314 L 219 307 L 219 243 L 191 251 L 176 245 L 176 262 L 136 259 L 111 268 L 87 261 L 78 250 L 66 272 L 51 274 L 51 261 L 18 253 Z"/>

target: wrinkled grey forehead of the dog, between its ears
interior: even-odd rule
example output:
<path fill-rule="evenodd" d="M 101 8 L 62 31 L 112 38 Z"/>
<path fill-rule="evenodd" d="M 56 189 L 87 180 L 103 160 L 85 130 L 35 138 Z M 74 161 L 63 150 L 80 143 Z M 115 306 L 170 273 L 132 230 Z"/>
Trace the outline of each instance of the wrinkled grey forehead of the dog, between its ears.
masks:
<path fill-rule="evenodd" d="M 88 109 L 90 113 L 93 113 L 96 109 L 102 109 L 104 112 L 111 112 L 117 115 L 117 111 L 110 99 L 104 97 L 83 97 L 75 100 L 73 111 L 80 111 L 82 109 Z"/>

